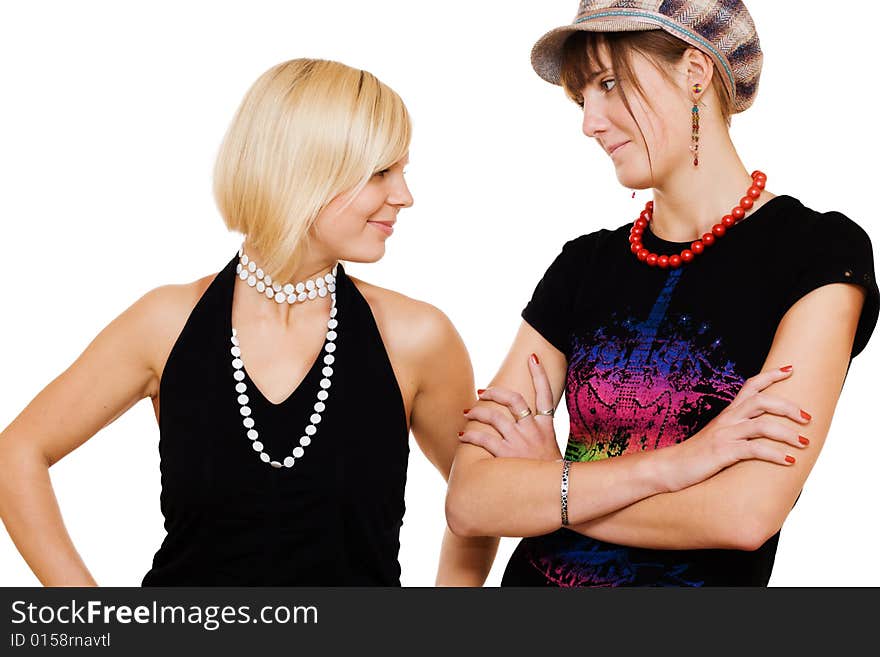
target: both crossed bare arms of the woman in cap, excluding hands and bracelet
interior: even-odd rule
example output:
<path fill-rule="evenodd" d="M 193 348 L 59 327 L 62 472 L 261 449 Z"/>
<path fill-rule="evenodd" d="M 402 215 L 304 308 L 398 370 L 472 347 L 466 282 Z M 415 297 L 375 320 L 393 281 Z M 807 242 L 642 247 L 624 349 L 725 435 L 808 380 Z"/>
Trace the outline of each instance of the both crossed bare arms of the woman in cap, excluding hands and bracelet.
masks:
<path fill-rule="evenodd" d="M 574 464 L 570 528 L 593 538 L 649 548 L 759 547 L 781 527 L 824 443 L 863 302 L 861 288 L 827 285 L 792 306 L 777 329 L 763 369 L 790 363 L 794 374 L 769 390 L 797 400 L 813 416 L 806 430 L 792 420 L 772 420 L 808 432 L 811 445 L 797 452 L 796 464 L 783 468 L 742 461 L 674 493 L 665 492 L 663 482 L 669 468 L 676 467 L 664 452 L 673 453 L 675 448 Z M 526 366 L 529 353 L 536 353 L 544 365 L 557 404 L 565 357 L 527 324 L 491 385 L 534 399 Z M 469 423 L 471 428 L 495 433 L 480 423 Z M 492 458 L 481 447 L 462 445 L 447 495 L 450 527 L 463 535 L 529 536 L 553 531 L 560 526 L 559 475 L 560 465 L 550 460 Z M 578 517 L 572 516 L 572 509 Z"/>

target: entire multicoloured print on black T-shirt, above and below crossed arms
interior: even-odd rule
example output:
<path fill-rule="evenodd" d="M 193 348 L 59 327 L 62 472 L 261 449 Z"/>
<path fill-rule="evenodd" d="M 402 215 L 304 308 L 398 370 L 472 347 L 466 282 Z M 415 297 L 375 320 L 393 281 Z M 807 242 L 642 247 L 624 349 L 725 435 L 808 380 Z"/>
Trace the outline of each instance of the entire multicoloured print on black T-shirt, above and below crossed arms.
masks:
<path fill-rule="evenodd" d="M 745 379 L 712 327 L 668 314 L 681 270 L 669 274 L 648 317 L 612 316 L 572 337 L 566 383 L 566 458 L 595 461 L 680 443 L 726 407 Z M 631 549 L 557 532 L 529 541 L 529 560 L 557 586 L 699 586 L 674 553 Z M 665 557 L 665 558 L 664 558 Z"/>

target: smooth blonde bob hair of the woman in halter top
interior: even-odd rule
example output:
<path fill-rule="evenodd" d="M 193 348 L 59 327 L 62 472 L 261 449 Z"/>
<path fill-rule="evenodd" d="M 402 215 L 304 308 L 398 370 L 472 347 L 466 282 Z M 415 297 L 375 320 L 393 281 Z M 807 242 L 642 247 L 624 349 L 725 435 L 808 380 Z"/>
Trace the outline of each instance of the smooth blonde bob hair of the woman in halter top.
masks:
<path fill-rule="evenodd" d="M 372 74 L 339 62 L 293 59 L 245 94 L 214 168 L 227 228 L 247 236 L 261 266 L 290 280 L 309 230 L 334 198 L 353 199 L 409 150 L 406 106 Z"/>

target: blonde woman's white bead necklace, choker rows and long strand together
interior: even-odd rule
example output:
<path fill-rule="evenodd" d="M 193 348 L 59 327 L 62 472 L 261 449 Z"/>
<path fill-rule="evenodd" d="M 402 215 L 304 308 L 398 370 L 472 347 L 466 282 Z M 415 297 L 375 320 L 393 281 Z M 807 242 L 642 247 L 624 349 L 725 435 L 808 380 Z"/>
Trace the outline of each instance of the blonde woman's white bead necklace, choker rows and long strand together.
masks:
<path fill-rule="evenodd" d="M 263 443 L 258 440 L 260 437 L 259 432 L 254 426 L 254 418 L 251 417 L 251 408 L 248 406 L 248 402 L 250 401 L 248 396 L 245 394 L 247 392 L 247 384 L 243 381 L 244 379 L 244 362 L 241 359 L 241 347 L 238 342 L 238 331 L 235 330 L 235 327 L 232 327 L 232 337 L 230 341 L 232 342 L 232 348 L 230 349 L 230 353 L 232 354 L 232 367 L 233 367 L 233 378 L 236 381 L 235 391 L 238 393 L 238 403 L 239 403 L 239 412 L 241 413 L 244 424 L 244 428 L 247 432 L 247 437 L 250 439 L 251 446 L 254 448 L 260 455 L 260 460 L 263 463 L 268 463 L 274 468 L 280 468 L 282 465 L 285 468 L 292 468 L 293 464 L 297 459 L 302 458 L 303 454 L 305 454 L 305 448 L 309 446 L 312 442 L 312 438 L 318 432 L 317 425 L 321 422 L 321 413 L 324 412 L 326 405 L 324 402 L 327 401 L 327 398 L 330 396 L 330 379 L 333 376 L 333 363 L 336 360 L 336 357 L 333 355 L 333 352 L 336 351 L 335 340 L 337 337 L 336 329 L 339 328 L 339 320 L 337 319 L 337 309 L 336 309 L 336 267 L 333 267 L 332 274 L 327 274 L 322 278 L 315 279 L 314 281 L 309 280 L 306 283 L 298 283 L 296 285 L 292 285 L 288 283 L 284 286 L 279 286 L 278 290 L 275 290 L 276 294 L 272 294 L 272 287 L 267 287 L 272 285 L 272 280 L 268 275 L 263 276 L 263 270 L 256 266 L 253 260 L 247 259 L 247 256 L 242 253 L 242 250 L 239 249 L 238 255 L 240 258 L 240 262 L 236 271 L 238 272 L 239 278 L 242 280 L 248 279 L 248 285 L 251 287 L 256 287 L 258 292 L 263 292 L 260 289 L 260 284 L 263 285 L 264 290 L 267 291 L 266 298 L 274 299 L 277 303 L 283 303 L 285 300 L 288 303 L 296 303 L 297 301 L 302 302 L 308 299 L 315 299 L 317 297 L 325 297 L 327 294 L 330 294 L 330 318 L 327 320 L 327 335 L 324 341 L 324 367 L 321 370 L 321 374 L 324 375 L 324 378 L 320 381 L 321 389 L 318 391 L 318 401 L 314 405 L 314 413 L 312 413 L 309 418 L 309 424 L 306 425 L 305 431 L 303 432 L 303 436 L 299 439 L 299 445 L 295 447 L 292 453 L 284 458 L 283 461 L 273 460 L 268 453 L 263 451 Z M 251 267 L 253 266 L 253 269 Z M 250 274 L 254 274 L 254 276 L 248 277 Z M 242 274 L 245 274 L 242 276 Z M 260 275 L 257 276 L 256 274 Z M 250 279 L 260 278 L 259 283 L 250 282 Z M 325 285 L 320 285 L 318 281 L 325 283 Z M 312 284 L 312 287 L 309 287 L 309 283 Z M 275 285 L 278 285 L 277 283 Z M 303 286 L 303 290 L 300 291 L 299 286 Z M 291 291 L 287 291 L 287 287 L 291 286 Z M 306 292 L 307 290 L 307 292 Z M 294 291 L 296 294 L 294 294 Z M 321 293 L 323 292 L 323 294 Z M 286 294 L 282 294 L 286 293 Z M 314 294 L 312 294 L 314 293 Z M 305 294 L 305 298 L 300 299 L 299 297 Z M 279 295 L 281 295 L 281 300 L 279 301 Z M 294 300 L 291 301 L 291 296 L 294 297 Z"/>

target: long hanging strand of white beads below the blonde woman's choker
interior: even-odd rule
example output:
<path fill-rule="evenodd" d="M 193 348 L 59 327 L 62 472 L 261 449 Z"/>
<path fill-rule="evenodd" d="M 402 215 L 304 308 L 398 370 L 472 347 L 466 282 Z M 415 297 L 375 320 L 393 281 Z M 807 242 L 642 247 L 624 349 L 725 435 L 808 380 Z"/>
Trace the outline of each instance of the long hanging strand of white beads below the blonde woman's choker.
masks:
<path fill-rule="evenodd" d="M 333 273 L 335 275 L 336 267 L 333 267 Z M 239 276 L 241 276 L 241 274 L 239 274 Z M 299 439 L 299 445 L 295 447 L 291 455 L 286 456 L 283 461 L 273 460 L 268 453 L 263 451 L 263 443 L 258 440 L 260 434 L 254 427 L 254 418 L 251 417 L 251 408 L 250 406 L 248 406 L 248 402 L 250 401 L 250 399 L 245 394 L 245 392 L 247 392 L 247 384 L 243 380 L 245 376 L 244 362 L 241 359 L 241 346 L 239 345 L 238 341 L 238 331 L 235 330 L 235 327 L 232 328 L 232 337 L 230 340 L 232 342 L 230 353 L 232 354 L 232 367 L 234 370 L 232 376 L 236 381 L 235 391 L 236 393 L 238 393 L 238 403 L 240 406 L 239 412 L 244 418 L 242 420 L 242 423 L 244 424 L 244 427 L 247 431 L 247 437 L 252 441 L 251 446 L 254 448 L 254 451 L 256 451 L 260 455 L 260 460 L 263 461 L 263 463 L 268 463 L 273 468 L 280 468 L 282 465 L 285 468 L 292 468 L 296 460 L 302 458 L 303 454 L 305 453 L 305 448 L 309 446 L 315 434 L 318 432 L 317 425 L 320 424 L 321 413 L 323 413 L 326 408 L 324 402 L 326 402 L 327 398 L 330 396 L 330 379 L 333 377 L 332 365 L 336 360 L 336 357 L 333 355 L 333 352 L 336 351 L 336 329 L 339 328 L 339 320 L 336 318 L 337 309 L 335 276 L 333 280 L 333 289 L 329 290 L 331 300 L 330 318 L 327 320 L 327 335 L 325 336 L 324 348 L 322 350 L 326 353 L 324 353 L 324 367 L 321 369 L 321 374 L 323 374 L 323 378 L 319 383 L 321 389 L 318 390 L 318 401 L 313 407 L 314 413 L 312 413 L 311 417 L 309 417 L 309 424 L 306 425 L 306 428 L 303 431 L 303 436 Z M 326 290 L 328 290 L 329 287 L 330 284 L 328 284 L 326 288 L 322 288 L 325 290 L 325 293 L 319 296 L 326 296 Z"/>

